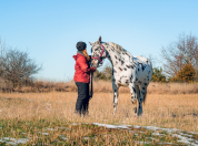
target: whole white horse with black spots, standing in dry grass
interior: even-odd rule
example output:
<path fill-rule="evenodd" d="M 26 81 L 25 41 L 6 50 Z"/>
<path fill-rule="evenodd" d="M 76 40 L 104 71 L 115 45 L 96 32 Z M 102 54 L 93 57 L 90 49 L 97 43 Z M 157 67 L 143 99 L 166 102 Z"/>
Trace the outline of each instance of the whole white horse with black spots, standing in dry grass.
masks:
<path fill-rule="evenodd" d="M 112 42 L 101 42 L 101 36 L 91 45 L 91 65 L 99 67 L 107 58 L 112 64 L 113 114 L 118 105 L 118 90 L 129 87 L 135 113 L 142 115 L 142 102 L 152 75 L 152 64 L 145 56 L 132 56 L 122 46 Z M 137 111 L 137 100 L 139 103 Z"/>

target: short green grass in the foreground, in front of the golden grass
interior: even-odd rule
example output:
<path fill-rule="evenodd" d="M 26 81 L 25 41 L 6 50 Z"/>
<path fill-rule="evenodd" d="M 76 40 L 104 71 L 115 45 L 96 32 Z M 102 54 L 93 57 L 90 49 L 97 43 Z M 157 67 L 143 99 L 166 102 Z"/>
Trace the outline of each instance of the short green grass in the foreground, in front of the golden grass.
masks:
<path fill-rule="evenodd" d="M 0 145 L 9 145 L 9 142 L 19 145 L 187 145 L 178 143 L 179 138 L 165 131 L 154 132 L 132 126 L 129 129 L 117 129 L 63 121 L 0 119 Z M 198 135 L 191 135 L 198 139 Z"/>

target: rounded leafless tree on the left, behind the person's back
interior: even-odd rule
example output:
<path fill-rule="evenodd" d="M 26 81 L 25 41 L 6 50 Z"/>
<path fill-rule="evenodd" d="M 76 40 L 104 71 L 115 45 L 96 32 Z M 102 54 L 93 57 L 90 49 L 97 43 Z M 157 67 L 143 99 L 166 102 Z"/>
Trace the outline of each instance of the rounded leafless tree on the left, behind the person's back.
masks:
<path fill-rule="evenodd" d="M 41 65 L 36 64 L 27 52 L 17 49 L 9 49 L 4 55 L 0 56 L 0 71 L 4 80 L 10 81 L 13 87 L 30 81 L 32 75 L 41 70 Z"/>

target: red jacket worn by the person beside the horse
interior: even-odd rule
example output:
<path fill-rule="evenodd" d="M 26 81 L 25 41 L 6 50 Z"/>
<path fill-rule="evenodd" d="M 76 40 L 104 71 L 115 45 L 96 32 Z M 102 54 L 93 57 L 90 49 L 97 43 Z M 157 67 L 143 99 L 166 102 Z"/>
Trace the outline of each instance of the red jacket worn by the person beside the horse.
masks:
<path fill-rule="evenodd" d="M 76 82 L 89 83 L 90 82 L 90 72 L 95 72 L 95 67 L 90 67 L 88 60 L 82 54 L 77 53 L 73 55 L 76 60 L 75 64 L 75 76 Z"/>

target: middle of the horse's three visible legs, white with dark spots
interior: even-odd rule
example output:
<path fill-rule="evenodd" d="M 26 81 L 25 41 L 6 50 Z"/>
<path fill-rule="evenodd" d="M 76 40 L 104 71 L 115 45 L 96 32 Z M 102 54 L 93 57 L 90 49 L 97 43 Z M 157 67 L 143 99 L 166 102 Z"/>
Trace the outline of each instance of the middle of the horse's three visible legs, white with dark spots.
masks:
<path fill-rule="evenodd" d="M 133 105 L 135 113 L 137 113 L 137 97 L 136 97 L 136 85 L 135 83 L 129 83 L 130 94 L 131 94 L 131 102 Z"/>

